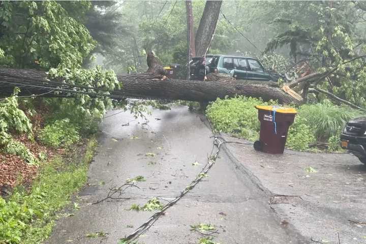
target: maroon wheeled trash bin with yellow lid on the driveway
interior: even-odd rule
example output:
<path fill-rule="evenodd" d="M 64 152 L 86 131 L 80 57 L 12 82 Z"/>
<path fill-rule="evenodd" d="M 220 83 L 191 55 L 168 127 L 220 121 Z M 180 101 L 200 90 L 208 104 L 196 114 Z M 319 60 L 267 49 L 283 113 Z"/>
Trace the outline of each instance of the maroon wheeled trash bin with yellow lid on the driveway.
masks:
<path fill-rule="evenodd" d="M 259 141 L 254 149 L 268 154 L 283 154 L 287 132 L 296 115 L 294 108 L 256 106 L 260 121 Z"/>

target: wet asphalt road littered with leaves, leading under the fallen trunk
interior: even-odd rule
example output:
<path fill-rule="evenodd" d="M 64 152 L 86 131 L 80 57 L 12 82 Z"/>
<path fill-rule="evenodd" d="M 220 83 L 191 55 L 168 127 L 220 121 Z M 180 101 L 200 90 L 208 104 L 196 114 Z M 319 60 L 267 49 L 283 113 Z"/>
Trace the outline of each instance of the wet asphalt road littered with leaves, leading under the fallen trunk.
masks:
<path fill-rule="evenodd" d="M 79 194 L 80 209 L 60 218 L 46 243 L 117 243 L 154 214 L 129 210 L 133 203 L 143 205 L 153 197 L 163 203 L 171 200 L 200 172 L 212 149 L 212 134 L 202 115 L 175 106 L 154 109 L 147 119 L 136 120 L 129 112 L 105 118 L 88 186 Z M 200 165 L 192 165 L 196 161 Z M 127 191 L 125 197 L 131 199 L 90 204 L 137 175 L 146 181 L 138 183 L 141 190 Z M 215 241 L 222 244 L 308 243 L 275 214 L 269 198 L 221 151 L 208 177 L 169 208 L 139 243 L 198 243 L 200 235 L 192 233 L 190 225 L 200 223 L 220 226 Z M 85 237 L 93 232 L 108 234 Z"/>

